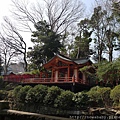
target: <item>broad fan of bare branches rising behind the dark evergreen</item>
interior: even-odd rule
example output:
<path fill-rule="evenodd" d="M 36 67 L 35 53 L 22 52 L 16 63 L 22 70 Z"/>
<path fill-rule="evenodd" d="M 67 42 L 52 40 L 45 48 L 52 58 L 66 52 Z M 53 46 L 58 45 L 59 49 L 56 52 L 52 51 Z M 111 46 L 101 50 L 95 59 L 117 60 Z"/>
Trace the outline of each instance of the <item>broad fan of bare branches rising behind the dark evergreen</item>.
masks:
<path fill-rule="evenodd" d="M 12 0 L 12 13 L 20 25 L 32 31 L 30 23 L 34 25 L 46 20 L 51 29 L 57 33 L 64 33 L 66 29 L 80 20 L 84 11 L 80 0 L 40 0 L 30 8 L 26 0 Z"/>

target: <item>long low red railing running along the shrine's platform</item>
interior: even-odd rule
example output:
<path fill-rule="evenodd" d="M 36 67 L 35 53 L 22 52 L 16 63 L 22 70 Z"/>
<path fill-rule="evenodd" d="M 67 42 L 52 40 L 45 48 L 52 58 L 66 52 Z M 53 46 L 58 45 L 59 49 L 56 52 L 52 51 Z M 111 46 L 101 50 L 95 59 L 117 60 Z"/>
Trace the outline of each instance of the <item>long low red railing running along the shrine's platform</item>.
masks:
<path fill-rule="evenodd" d="M 29 84 L 29 83 L 80 83 L 80 84 L 85 84 L 88 85 L 89 83 L 86 80 L 83 79 L 76 79 L 75 77 L 58 77 L 58 78 L 39 78 L 39 77 L 29 77 L 29 76 L 21 76 L 21 75 L 13 75 L 13 76 L 9 76 L 9 77 L 4 77 L 4 81 L 8 81 L 8 82 L 15 82 L 15 83 L 25 83 L 25 84 Z"/>

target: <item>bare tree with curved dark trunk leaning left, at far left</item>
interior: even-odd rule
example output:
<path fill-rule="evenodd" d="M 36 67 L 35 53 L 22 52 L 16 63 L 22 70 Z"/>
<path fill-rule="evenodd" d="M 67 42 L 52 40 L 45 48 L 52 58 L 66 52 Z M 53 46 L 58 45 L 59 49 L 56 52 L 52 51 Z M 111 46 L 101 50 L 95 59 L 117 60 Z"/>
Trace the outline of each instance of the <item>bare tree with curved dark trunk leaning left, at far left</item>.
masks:
<path fill-rule="evenodd" d="M 17 54 L 23 55 L 23 60 L 25 63 L 25 71 L 27 71 L 27 60 L 26 60 L 26 42 L 24 41 L 23 37 L 21 36 L 20 32 L 17 30 L 15 25 L 12 24 L 10 19 L 4 17 L 4 23 L 2 24 L 2 30 L 4 33 L 5 43 L 7 47 L 17 52 Z M 10 51 L 9 51 L 10 52 Z"/>

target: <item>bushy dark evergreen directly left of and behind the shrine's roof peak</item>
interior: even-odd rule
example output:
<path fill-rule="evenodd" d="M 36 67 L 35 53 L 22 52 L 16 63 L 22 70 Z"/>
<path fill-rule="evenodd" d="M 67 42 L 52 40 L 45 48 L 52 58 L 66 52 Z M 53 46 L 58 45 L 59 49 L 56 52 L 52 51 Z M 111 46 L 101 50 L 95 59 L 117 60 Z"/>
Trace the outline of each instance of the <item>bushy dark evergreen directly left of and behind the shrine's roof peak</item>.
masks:
<path fill-rule="evenodd" d="M 28 56 L 31 58 L 31 62 L 40 68 L 41 64 L 54 56 L 54 53 L 59 53 L 63 45 L 60 42 L 61 35 L 52 31 L 46 21 L 38 22 L 35 24 L 35 28 L 36 31 L 33 32 L 31 39 L 34 46 Z"/>

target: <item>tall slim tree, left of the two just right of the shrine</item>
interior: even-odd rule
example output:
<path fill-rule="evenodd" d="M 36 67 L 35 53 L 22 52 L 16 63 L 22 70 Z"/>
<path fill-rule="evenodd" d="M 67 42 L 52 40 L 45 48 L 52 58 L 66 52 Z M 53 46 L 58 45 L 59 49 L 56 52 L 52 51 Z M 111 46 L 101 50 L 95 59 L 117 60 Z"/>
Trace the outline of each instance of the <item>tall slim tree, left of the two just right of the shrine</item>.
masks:
<path fill-rule="evenodd" d="M 102 11 L 101 6 L 94 8 L 94 13 L 91 16 L 90 24 L 94 31 L 94 49 L 98 55 L 98 61 L 102 60 L 103 50 L 105 49 L 105 26 L 104 26 L 104 15 L 106 11 Z"/>

